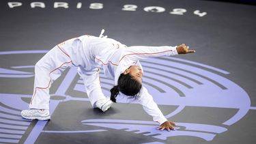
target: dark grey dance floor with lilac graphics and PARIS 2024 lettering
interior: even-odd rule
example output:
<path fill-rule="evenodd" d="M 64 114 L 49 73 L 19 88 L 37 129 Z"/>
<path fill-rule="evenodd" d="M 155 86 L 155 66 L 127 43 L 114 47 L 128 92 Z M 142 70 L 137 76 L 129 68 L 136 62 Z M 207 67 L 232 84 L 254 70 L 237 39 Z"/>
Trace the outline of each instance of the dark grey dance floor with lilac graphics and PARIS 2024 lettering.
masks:
<path fill-rule="evenodd" d="M 256 6 L 224 1 L 0 2 L 0 143 L 256 143 Z M 171 132 L 132 100 L 103 113 L 89 103 L 75 67 L 51 87 L 50 121 L 27 120 L 35 63 L 80 35 L 127 46 L 177 46 L 188 55 L 141 60 L 143 85 Z M 100 73 L 110 96 L 113 79 Z"/>

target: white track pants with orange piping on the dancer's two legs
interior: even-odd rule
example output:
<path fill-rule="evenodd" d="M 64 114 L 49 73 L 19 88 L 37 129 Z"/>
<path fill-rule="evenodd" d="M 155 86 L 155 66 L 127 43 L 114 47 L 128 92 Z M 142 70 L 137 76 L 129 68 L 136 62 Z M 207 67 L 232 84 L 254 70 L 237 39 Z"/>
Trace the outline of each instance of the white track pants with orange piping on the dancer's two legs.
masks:
<path fill-rule="evenodd" d="M 73 61 L 70 57 L 72 53 L 66 53 L 70 51 L 70 48 L 74 48 L 72 44 L 74 40 L 55 46 L 35 64 L 35 81 L 29 109 L 49 109 L 51 84 L 61 76 L 66 68 L 72 66 Z M 100 87 L 98 68 L 95 68 L 89 75 L 86 74 L 84 68 L 79 67 L 78 71 L 83 78 L 91 105 L 95 107 L 97 100 L 106 98 Z"/>

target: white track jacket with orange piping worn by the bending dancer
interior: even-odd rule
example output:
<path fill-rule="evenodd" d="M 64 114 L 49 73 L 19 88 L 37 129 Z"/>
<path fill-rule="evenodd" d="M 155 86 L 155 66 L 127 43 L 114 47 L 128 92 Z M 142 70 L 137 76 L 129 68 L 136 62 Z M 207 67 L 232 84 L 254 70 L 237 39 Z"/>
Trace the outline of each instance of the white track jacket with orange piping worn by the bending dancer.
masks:
<path fill-rule="evenodd" d="M 124 70 L 134 65 L 141 67 L 141 64 L 139 63 L 140 59 L 177 55 L 177 46 L 128 47 L 110 38 L 98 38 L 88 35 L 83 35 L 78 39 L 81 40 L 83 47 L 90 47 L 89 53 L 91 53 L 91 61 L 80 61 L 81 63 L 79 63 L 79 61 L 76 61 L 76 64 L 85 66 L 88 70 L 85 73 L 87 73 L 88 75 L 91 75 L 91 72 L 93 72 L 91 70 L 98 71 L 96 68 L 103 66 L 104 74 L 110 78 L 114 78 L 115 85 L 117 85 L 119 75 L 122 74 Z M 91 87 L 91 89 L 94 89 L 94 87 Z M 167 119 L 164 115 L 162 115 L 162 112 L 160 111 L 160 109 L 158 109 L 157 104 L 154 102 L 152 96 L 150 95 L 150 93 L 148 93 L 145 87 L 141 88 L 140 95 L 138 96 L 137 100 L 134 101 L 141 104 L 145 112 L 148 115 L 151 115 L 154 121 L 158 122 L 159 124 L 167 121 Z"/>

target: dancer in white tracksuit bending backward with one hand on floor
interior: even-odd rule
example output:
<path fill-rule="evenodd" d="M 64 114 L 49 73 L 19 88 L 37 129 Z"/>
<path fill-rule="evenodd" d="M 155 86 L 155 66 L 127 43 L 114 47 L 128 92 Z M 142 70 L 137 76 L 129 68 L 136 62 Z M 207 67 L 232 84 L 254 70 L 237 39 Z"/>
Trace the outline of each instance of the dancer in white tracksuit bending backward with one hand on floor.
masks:
<path fill-rule="evenodd" d="M 104 31 L 102 31 L 103 33 Z M 143 68 L 140 59 L 149 57 L 162 57 L 186 53 L 195 53 L 185 44 L 180 46 L 126 46 L 106 38 L 102 33 L 100 37 L 82 35 L 72 38 L 48 51 L 42 59 L 35 64 L 35 81 L 33 96 L 29 109 L 21 112 L 25 119 L 51 119 L 49 114 L 49 89 L 61 72 L 70 66 L 78 68 L 83 78 L 85 90 L 89 101 L 94 108 L 103 112 L 117 102 L 119 95 L 134 98 L 143 106 L 145 112 L 158 122 L 160 130 L 174 130 L 175 124 L 168 121 L 150 93 L 143 87 Z M 106 97 L 100 87 L 99 72 L 103 68 L 104 74 L 115 79 L 111 89 L 111 96 Z"/>

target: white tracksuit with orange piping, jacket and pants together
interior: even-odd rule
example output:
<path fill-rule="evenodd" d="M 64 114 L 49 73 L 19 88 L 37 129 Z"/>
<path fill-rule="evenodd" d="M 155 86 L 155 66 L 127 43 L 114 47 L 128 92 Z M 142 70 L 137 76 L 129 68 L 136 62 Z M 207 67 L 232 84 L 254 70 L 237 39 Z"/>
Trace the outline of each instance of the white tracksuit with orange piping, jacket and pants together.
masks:
<path fill-rule="evenodd" d="M 104 74 L 115 78 L 130 66 L 140 66 L 139 59 L 148 57 L 177 55 L 176 46 L 130 46 L 110 38 L 98 38 L 82 35 L 57 44 L 35 64 L 34 92 L 29 104 L 30 109 L 49 109 L 49 88 L 63 70 L 77 66 L 92 106 L 102 98 L 106 98 L 100 87 L 99 71 L 103 67 Z M 142 68 L 142 67 L 141 67 Z M 122 94 L 122 93 L 121 93 Z M 159 124 L 167 121 L 150 93 L 141 88 L 140 96 L 134 100 L 142 104 L 143 109 Z M 118 99 L 117 99 L 118 102 Z"/>

